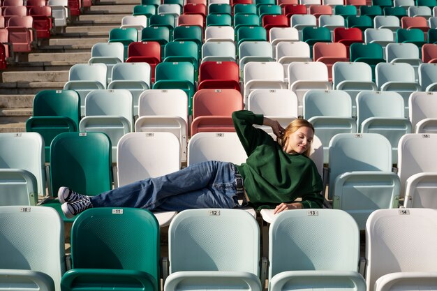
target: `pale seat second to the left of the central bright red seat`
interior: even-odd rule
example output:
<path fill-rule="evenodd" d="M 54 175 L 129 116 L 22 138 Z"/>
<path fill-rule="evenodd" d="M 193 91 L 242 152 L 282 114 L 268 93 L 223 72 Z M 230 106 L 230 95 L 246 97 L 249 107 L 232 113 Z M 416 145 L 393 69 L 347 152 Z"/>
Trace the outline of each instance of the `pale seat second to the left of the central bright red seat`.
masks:
<path fill-rule="evenodd" d="M 147 63 L 121 63 L 112 68 L 108 89 L 127 89 L 133 98 L 133 115 L 138 116 L 138 98 L 150 89 L 151 68 Z"/>

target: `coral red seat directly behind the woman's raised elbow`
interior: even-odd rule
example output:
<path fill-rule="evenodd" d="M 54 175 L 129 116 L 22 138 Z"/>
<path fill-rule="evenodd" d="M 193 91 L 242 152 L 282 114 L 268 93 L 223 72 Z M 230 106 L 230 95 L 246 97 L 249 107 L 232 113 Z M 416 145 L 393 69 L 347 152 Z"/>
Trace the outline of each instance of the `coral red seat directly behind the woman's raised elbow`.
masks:
<path fill-rule="evenodd" d="M 201 89 L 193 96 L 191 135 L 235 131 L 232 112 L 242 110 L 242 94 L 234 89 Z"/>

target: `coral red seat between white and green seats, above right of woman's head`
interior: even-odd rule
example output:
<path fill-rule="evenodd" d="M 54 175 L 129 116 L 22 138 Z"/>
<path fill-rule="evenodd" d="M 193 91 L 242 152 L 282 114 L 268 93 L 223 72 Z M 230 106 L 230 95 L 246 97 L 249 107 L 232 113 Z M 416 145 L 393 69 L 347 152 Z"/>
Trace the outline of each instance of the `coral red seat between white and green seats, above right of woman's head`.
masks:
<path fill-rule="evenodd" d="M 313 61 L 321 61 L 327 66 L 328 80 L 332 82 L 332 66 L 337 61 L 349 61 L 346 45 L 343 43 L 315 43 Z"/>

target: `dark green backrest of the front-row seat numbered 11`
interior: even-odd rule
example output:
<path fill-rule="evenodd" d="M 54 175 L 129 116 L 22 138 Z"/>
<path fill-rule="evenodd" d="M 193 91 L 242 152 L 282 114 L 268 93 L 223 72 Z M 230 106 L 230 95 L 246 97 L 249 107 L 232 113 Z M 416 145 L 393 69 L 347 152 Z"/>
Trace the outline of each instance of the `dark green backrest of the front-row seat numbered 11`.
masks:
<path fill-rule="evenodd" d="M 88 209 L 71 229 L 73 269 L 138 270 L 157 285 L 159 240 L 158 222 L 146 209 Z"/>

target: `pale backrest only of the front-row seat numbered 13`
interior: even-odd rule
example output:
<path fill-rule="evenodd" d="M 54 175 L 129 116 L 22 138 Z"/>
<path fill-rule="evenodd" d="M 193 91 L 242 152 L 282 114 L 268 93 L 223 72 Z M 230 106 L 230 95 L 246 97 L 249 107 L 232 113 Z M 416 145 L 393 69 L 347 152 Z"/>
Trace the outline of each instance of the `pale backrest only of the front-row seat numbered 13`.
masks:
<path fill-rule="evenodd" d="M 283 211 L 269 228 L 269 281 L 285 271 L 357 271 L 359 256 L 360 231 L 345 211 Z"/>

